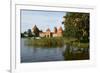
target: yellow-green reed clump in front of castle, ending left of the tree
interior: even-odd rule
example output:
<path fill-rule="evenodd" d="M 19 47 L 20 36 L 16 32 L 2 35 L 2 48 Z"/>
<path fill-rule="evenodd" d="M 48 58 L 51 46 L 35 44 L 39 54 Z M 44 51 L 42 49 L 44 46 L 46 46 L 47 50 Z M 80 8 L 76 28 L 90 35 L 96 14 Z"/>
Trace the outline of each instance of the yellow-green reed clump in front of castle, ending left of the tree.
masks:
<path fill-rule="evenodd" d="M 28 45 L 35 47 L 63 47 L 64 42 L 62 38 L 41 38 L 41 39 L 30 39 L 26 40 Z"/>

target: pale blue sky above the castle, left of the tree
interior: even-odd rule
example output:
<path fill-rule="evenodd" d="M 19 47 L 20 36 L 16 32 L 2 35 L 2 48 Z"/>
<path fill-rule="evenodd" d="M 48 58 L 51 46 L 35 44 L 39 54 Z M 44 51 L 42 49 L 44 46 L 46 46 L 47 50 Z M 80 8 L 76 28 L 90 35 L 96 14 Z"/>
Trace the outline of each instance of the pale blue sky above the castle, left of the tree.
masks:
<path fill-rule="evenodd" d="M 62 17 L 65 12 L 51 12 L 51 11 L 32 11 L 21 10 L 21 32 L 32 29 L 36 25 L 40 30 L 46 31 L 50 28 L 53 31 L 54 27 L 62 26 Z"/>

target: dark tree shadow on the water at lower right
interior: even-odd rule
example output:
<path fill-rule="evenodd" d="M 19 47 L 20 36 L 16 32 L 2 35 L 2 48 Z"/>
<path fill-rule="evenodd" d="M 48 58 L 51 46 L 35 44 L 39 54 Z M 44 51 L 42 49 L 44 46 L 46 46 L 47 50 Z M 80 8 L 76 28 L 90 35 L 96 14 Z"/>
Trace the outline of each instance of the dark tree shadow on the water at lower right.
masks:
<path fill-rule="evenodd" d="M 89 59 L 89 48 L 77 48 L 67 45 L 63 56 L 64 60 L 87 60 Z"/>

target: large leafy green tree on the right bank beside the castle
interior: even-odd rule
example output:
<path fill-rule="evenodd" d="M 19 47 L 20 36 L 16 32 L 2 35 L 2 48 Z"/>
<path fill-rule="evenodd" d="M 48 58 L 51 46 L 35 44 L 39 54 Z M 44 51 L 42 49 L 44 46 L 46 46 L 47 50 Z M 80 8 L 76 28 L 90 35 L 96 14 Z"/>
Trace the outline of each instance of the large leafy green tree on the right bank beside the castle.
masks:
<path fill-rule="evenodd" d="M 66 37 L 89 40 L 89 13 L 67 12 L 63 18 Z"/>

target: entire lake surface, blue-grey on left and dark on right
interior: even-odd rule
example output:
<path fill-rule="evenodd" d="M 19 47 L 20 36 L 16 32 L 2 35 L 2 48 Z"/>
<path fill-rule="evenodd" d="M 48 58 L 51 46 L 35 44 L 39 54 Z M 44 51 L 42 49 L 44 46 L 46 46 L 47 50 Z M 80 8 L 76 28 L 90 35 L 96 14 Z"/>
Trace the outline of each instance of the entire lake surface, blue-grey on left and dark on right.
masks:
<path fill-rule="evenodd" d="M 71 48 L 70 46 L 46 48 L 27 45 L 27 39 L 21 38 L 21 62 L 45 62 L 64 60 L 85 60 L 89 59 L 89 50 Z M 74 51 L 74 52 L 72 52 Z"/>

